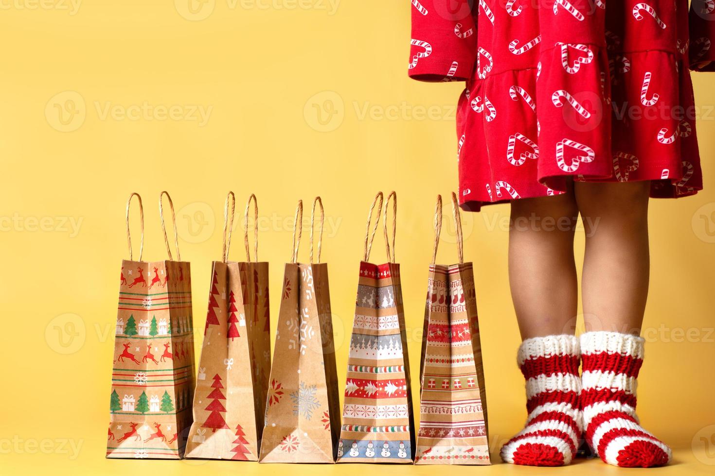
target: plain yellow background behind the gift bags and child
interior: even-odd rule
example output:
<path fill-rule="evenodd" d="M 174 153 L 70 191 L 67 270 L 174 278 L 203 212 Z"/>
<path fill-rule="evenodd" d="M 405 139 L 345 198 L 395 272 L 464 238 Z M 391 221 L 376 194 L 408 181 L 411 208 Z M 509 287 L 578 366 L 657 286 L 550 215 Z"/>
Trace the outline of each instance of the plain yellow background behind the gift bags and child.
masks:
<path fill-rule="evenodd" d="M 163 189 L 172 193 L 182 258 L 192 263 L 197 329 L 204 324 L 210 262 L 220 258 L 225 193 L 237 193 L 239 210 L 256 193 L 267 217 L 260 258 L 271 265 L 274 329 L 295 203 L 322 196 L 323 260 L 330 263 L 344 383 L 365 216 L 376 191 L 394 189 L 413 377 L 418 371 L 434 199 L 456 187 L 453 104 L 461 85 L 408 80 L 406 0 L 342 0 L 337 9 L 327 0 L 193 1 L 194 10 L 188 0 L 84 0 L 77 11 L 64 0 L 1 4 L 4 474 L 357 475 L 366 469 L 104 460 L 119 267 L 128 257 L 124 204 L 131 191 L 144 197 L 147 260 L 165 256 L 157 198 Z M 715 104 L 713 78 L 694 75 L 700 105 Z M 153 109 L 137 113 L 144 104 Z M 194 106 L 210 108 L 207 121 L 192 119 Z M 164 117 L 169 110 L 172 116 Z M 702 116 L 697 128 L 706 191 L 651 206 L 648 358 L 638 410 L 645 426 L 675 448 L 674 464 L 659 474 L 715 469 L 715 116 L 711 110 Z M 442 262 L 455 260 L 448 211 L 445 206 Z M 503 465 L 497 453 L 526 416 L 506 273 L 507 217 L 504 205 L 463 216 L 498 464 L 450 470 L 460 474 L 549 471 Z M 63 224 L 69 219 L 82 220 L 78 233 Z M 244 255 L 240 235 L 232 250 L 237 260 Z M 582 233 L 577 240 L 581 260 Z M 383 238 L 375 243 L 373 258 L 383 260 Z M 619 470 L 596 460 L 558 471 Z"/>

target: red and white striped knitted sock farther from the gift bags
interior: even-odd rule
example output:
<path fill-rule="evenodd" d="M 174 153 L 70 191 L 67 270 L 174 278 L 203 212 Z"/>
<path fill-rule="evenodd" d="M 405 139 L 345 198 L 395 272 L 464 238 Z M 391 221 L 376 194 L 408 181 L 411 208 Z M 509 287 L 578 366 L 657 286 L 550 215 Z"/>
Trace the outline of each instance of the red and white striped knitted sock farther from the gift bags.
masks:
<path fill-rule="evenodd" d="M 638 424 L 636 378 L 643 345 L 643 338 L 631 334 L 581 335 L 586 442 L 609 465 L 660 466 L 672 457 L 668 446 Z"/>

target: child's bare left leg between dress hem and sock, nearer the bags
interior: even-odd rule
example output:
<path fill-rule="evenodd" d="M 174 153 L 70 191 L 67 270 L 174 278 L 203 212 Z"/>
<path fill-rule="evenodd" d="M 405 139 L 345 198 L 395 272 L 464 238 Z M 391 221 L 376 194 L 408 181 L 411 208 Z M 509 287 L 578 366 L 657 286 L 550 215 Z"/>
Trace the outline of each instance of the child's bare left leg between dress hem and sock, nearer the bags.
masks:
<path fill-rule="evenodd" d="M 511 204 L 509 284 L 522 339 L 573 333 L 578 303 L 573 259 L 577 216 L 571 191 Z"/>

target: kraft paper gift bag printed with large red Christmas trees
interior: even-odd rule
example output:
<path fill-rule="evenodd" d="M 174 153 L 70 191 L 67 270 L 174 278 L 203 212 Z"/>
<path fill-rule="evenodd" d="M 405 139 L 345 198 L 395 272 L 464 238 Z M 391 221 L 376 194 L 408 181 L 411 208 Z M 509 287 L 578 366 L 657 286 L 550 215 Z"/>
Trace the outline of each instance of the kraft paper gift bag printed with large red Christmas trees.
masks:
<path fill-rule="evenodd" d="M 194 424 L 186 457 L 257 461 L 270 373 L 268 263 L 251 260 L 248 244 L 248 199 L 245 213 L 246 261 L 229 261 L 235 196 L 224 208 L 221 261 L 211 271 L 209 306 L 199 374 L 194 393 Z M 230 211 L 229 211 L 230 203 Z M 257 239 L 257 228 L 255 228 Z"/>

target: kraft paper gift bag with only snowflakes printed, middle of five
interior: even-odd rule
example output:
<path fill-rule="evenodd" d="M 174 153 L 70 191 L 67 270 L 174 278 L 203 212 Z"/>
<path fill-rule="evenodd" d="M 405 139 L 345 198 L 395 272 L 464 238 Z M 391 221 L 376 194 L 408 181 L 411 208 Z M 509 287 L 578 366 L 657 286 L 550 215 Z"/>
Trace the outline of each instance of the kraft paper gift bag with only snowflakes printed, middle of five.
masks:
<path fill-rule="evenodd" d="M 320 204 L 320 236 L 325 213 L 320 197 L 313 202 L 310 263 L 297 263 L 302 228 L 302 201 L 295 213 L 293 253 L 285 278 L 275 335 L 266 422 L 260 462 L 335 462 L 340 426 L 335 348 L 330 313 L 327 265 L 313 263 L 312 223 Z"/>

